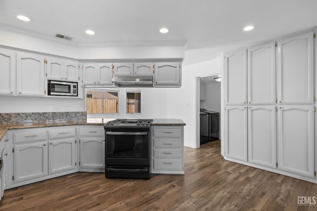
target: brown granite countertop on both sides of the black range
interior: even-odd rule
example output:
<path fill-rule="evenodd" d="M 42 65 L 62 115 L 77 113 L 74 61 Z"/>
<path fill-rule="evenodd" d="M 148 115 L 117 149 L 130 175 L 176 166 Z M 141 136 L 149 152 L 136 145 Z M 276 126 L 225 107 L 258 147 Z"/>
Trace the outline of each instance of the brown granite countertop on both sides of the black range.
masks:
<path fill-rule="evenodd" d="M 97 121 L 98 122 L 98 121 Z M 58 126 L 73 126 L 73 125 L 100 125 L 103 126 L 105 123 L 96 123 L 87 120 L 80 121 L 61 121 L 61 122 L 33 122 L 33 123 L 15 123 L 15 124 L 0 124 L 0 141 L 4 137 L 4 134 L 8 129 L 25 129 L 25 128 L 36 128 L 36 127 L 58 127 Z M 186 124 L 179 119 L 154 119 L 152 126 L 185 126 Z"/>

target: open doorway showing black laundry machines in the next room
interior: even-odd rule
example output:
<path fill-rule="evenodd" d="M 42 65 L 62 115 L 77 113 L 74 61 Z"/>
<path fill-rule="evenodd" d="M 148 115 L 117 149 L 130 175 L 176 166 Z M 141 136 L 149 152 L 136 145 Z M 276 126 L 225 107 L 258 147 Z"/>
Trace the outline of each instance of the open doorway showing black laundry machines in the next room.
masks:
<path fill-rule="evenodd" d="M 197 145 L 221 139 L 221 75 L 197 78 Z M 197 86 L 198 86 L 197 84 Z"/>

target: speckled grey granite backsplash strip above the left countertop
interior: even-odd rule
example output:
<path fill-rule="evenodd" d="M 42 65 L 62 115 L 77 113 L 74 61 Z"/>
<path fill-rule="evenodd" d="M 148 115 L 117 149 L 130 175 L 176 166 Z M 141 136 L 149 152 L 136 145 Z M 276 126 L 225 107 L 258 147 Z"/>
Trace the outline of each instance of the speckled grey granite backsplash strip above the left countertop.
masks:
<path fill-rule="evenodd" d="M 0 124 L 81 121 L 86 118 L 87 112 L 0 113 Z"/>

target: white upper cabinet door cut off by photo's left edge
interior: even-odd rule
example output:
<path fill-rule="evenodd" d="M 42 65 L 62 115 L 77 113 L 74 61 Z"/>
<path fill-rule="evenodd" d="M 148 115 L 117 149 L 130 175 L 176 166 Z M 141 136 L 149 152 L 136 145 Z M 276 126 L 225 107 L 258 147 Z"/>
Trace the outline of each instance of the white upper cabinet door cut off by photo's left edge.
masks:
<path fill-rule="evenodd" d="M 15 94 L 15 53 L 0 49 L 0 94 Z"/>

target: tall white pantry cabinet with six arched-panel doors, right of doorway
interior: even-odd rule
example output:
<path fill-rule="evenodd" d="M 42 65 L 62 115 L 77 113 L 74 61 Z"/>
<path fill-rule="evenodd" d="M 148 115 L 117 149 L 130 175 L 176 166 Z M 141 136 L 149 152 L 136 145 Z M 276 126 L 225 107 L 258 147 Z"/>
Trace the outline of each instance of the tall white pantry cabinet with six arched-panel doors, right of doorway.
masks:
<path fill-rule="evenodd" d="M 225 54 L 226 158 L 314 177 L 313 58 L 314 32 Z"/>

